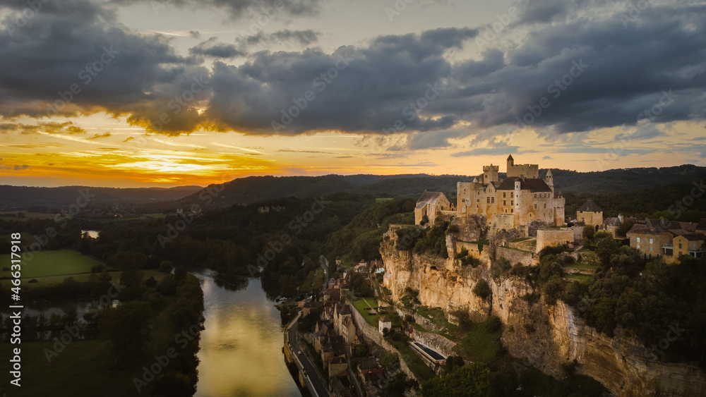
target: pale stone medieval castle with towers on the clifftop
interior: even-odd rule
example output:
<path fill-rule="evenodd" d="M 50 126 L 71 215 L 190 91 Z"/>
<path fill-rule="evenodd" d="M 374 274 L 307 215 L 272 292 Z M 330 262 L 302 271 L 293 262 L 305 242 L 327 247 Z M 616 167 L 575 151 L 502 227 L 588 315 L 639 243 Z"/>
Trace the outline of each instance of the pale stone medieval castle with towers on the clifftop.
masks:
<path fill-rule="evenodd" d="M 512 155 L 508 157 L 507 167 L 507 177 L 502 181 L 498 179 L 500 167 L 491 164 L 483 167 L 480 181 L 474 178 L 473 182 L 457 183 L 454 214 L 459 217 L 484 215 L 496 230 L 518 228 L 525 236 L 527 224 L 532 221 L 563 226 L 565 200 L 554 192 L 551 170 L 541 179 L 538 164 L 515 164 Z M 430 196 L 430 193 L 425 192 L 425 195 Z M 429 202 L 429 197 L 426 198 L 425 204 Z M 443 198 L 441 201 L 445 201 Z M 443 204 L 438 205 L 439 213 L 448 212 L 448 201 Z M 420 217 L 415 217 L 417 224 Z M 429 220 L 433 221 L 431 216 Z"/>

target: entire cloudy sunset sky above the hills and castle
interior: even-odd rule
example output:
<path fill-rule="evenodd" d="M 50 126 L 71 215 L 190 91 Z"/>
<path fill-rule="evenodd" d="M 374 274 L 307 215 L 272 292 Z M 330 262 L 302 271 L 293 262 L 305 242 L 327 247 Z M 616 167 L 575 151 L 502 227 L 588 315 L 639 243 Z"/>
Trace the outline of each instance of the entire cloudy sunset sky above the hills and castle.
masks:
<path fill-rule="evenodd" d="M 706 2 L 4 0 L 0 184 L 706 166 Z"/>

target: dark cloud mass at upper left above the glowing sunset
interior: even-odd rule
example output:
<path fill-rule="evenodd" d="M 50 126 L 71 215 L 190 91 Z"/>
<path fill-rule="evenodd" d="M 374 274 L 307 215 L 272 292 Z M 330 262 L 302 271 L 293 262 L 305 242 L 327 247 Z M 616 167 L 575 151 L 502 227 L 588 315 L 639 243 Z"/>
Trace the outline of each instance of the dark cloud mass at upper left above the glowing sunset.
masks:
<path fill-rule="evenodd" d="M 146 125 L 166 112 L 162 132 L 190 132 L 198 126 L 193 105 L 208 90 L 189 94 L 178 112 L 168 106 L 201 76 L 208 70 L 166 38 L 128 32 L 88 0 L 49 2 L 12 35 L 0 31 L 0 111 L 9 118 L 105 110 Z"/>

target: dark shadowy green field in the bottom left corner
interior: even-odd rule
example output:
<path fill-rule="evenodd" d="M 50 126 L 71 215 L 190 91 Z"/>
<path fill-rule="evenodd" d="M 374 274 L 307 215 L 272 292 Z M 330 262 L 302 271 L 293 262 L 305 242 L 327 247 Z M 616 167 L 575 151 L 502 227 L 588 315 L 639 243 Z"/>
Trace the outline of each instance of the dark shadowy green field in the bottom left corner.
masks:
<path fill-rule="evenodd" d="M 0 393 L 11 391 L 13 397 L 34 396 L 148 396 L 149 386 L 138 393 L 133 378 L 141 379 L 143 367 L 155 362 L 155 355 L 164 355 L 169 341 L 174 340 L 174 331 L 167 310 L 155 315 L 151 338 L 142 357 L 126 368 L 114 365 L 110 343 L 100 340 L 73 341 L 59 356 L 48 362 L 44 348 L 52 350 L 54 341 L 23 341 L 21 387 L 8 386 L 11 374 L 0 373 Z M 11 358 L 10 343 L 0 343 L 0 356 Z M 153 352 L 153 353 L 149 353 Z M 10 389 L 12 387 L 12 389 Z"/>

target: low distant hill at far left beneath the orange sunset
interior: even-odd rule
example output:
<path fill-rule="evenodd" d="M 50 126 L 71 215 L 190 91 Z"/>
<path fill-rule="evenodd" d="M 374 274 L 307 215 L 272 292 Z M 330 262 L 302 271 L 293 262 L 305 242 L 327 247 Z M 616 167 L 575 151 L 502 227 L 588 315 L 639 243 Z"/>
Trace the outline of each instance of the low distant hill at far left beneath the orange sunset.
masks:
<path fill-rule="evenodd" d="M 201 190 L 201 186 L 176 188 L 91 188 L 88 186 L 62 186 L 61 188 L 32 188 L 28 186 L 0 185 L 0 208 L 17 207 L 66 207 L 76 202 L 80 191 L 88 190 L 91 204 L 133 204 L 174 202 Z"/>

